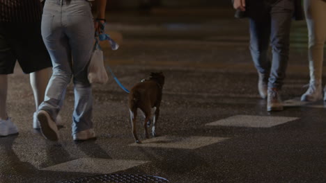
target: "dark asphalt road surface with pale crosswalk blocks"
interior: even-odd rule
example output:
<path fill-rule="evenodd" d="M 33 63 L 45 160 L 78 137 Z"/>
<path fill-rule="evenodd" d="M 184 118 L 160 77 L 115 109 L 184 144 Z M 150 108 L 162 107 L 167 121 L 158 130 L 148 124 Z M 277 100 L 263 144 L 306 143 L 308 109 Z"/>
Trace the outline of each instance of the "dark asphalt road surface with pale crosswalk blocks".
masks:
<path fill-rule="evenodd" d="M 9 77 L 8 113 L 20 134 L 0 138 L 0 182 L 59 182 L 102 174 L 154 175 L 170 182 L 326 182 L 325 103 L 300 103 L 309 82 L 306 26 L 294 22 L 282 112 L 266 112 L 248 50 L 248 22 L 233 11 L 176 17 L 164 10 L 108 15 L 121 44 L 106 64 L 127 89 L 153 71 L 166 82 L 159 137 L 134 143 L 125 93 L 109 76 L 93 85 L 98 139 L 71 136 L 72 85 L 58 142 L 32 130 L 29 77 Z M 191 12 L 191 11 L 189 11 Z M 325 68 L 324 68 L 325 70 Z M 324 75 L 325 76 L 325 75 Z"/>

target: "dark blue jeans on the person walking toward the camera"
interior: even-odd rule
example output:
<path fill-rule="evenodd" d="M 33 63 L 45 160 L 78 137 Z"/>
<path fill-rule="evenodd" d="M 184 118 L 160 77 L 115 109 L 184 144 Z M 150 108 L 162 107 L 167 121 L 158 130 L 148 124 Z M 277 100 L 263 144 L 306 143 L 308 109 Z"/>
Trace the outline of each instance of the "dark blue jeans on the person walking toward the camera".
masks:
<path fill-rule="evenodd" d="M 258 72 L 268 78 L 268 87 L 281 89 L 290 46 L 293 0 L 249 0 L 250 51 Z M 272 60 L 268 55 L 272 47 Z"/>

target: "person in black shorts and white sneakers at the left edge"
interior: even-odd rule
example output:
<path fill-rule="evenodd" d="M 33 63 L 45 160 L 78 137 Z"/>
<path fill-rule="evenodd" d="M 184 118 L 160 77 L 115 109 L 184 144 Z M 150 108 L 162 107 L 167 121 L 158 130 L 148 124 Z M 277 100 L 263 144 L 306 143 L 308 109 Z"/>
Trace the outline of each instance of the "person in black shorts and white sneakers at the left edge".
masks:
<path fill-rule="evenodd" d="M 30 75 L 36 110 L 44 99 L 52 63 L 40 33 L 40 0 L 0 0 L 0 10 L 0 136 L 7 136 L 18 132 L 6 109 L 8 74 L 16 60 Z M 33 117 L 33 128 L 39 128 L 36 112 Z"/>

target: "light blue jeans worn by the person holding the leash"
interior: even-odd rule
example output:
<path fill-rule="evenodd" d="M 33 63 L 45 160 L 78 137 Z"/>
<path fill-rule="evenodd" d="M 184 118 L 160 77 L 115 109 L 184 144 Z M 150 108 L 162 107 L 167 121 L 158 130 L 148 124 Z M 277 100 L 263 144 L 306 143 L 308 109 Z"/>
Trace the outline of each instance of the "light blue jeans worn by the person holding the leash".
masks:
<path fill-rule="evenodd" d="M 87 78 L 95 34 L 91 3 L 85 0 L 47 0 L 41 29 L 52 59 L 53 73 L 39 110 L 49 112 L 52 119 L 56 119 L 72 78 L 75 94 L 72 134 L 93 128 L 92 89 Z"/>

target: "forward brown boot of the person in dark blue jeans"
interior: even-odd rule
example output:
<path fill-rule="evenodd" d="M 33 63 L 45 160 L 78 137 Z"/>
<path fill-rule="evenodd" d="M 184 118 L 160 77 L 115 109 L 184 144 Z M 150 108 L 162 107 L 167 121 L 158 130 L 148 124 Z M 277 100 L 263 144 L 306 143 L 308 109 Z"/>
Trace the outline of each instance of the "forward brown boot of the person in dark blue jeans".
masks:
<path fill-rule="evenodd" d="M 279 96 L 279 89 L 268 88 L 267 91 L 267 111 L 281 111 L 283 110 L 283 104 L 281 97 Z"/>

